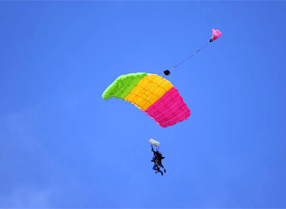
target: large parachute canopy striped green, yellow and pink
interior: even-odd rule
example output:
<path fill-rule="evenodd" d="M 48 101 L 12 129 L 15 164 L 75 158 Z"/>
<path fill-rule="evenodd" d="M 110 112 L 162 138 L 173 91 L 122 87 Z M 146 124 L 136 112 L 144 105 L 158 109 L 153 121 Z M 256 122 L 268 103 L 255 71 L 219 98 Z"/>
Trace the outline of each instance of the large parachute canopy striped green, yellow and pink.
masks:
<path fill-rule="evenodd" d="M 156 74 L 130 73 L 119 76 L 102 94 L 105 100 L 112 97 L 134 104 L 164 128 L 191 115 L 178 90 Z"/>

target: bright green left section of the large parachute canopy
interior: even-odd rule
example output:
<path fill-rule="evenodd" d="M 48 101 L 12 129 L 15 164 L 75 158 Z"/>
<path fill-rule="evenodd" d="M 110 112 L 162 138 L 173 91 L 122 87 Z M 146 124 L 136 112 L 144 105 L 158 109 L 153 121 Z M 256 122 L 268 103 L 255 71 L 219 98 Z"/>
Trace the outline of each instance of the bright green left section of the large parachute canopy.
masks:
<path fill-rule="evenodd" d="M 125 97 L 145 76 L 147 76 L 147 73 L 130 73 L 119 76 L 111 85 L 107 87 L 107 89 L 105 89 L 102 94 L 102 98 L 105 100 L 112 97 L 125 99 Z"/>

